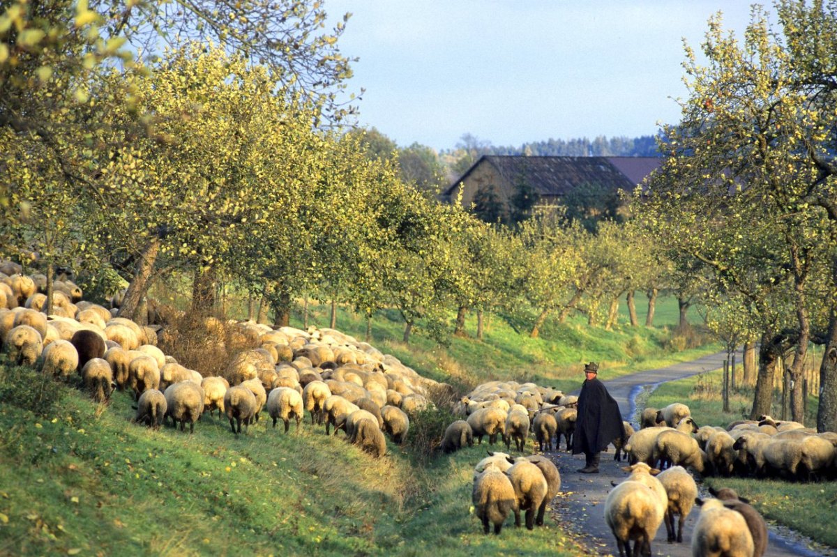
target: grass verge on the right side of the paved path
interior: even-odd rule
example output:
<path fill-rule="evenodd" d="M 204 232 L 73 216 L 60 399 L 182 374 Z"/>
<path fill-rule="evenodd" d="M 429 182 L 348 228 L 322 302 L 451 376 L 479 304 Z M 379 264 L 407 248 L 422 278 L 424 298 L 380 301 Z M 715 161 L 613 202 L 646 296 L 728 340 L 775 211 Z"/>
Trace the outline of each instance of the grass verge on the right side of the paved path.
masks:
<path fill-rule="evenodd" d="M 683 402 L 691 409 L 698 425 L 726 426 L 747 416 L 752 406 L 752 389 L 731 393 L 730 412 L 724 412 L 721 399 L 722 370 L 672 381 L 651 393 L 647 405 L 661 408 Z M 774 396 L 774 400 L 778 400 Z M 816 422 L 817 399 L 809 397 L 806 423 Z M 780 416 L 778 402 L 773 416 Z M 714 488 L 730 487 L 752 505 L 765 519 L 783 524 L 814 539 L 819 544 L 837 548 L 837 483 L 788 483 L 752 478 L 705 478 Z"/>

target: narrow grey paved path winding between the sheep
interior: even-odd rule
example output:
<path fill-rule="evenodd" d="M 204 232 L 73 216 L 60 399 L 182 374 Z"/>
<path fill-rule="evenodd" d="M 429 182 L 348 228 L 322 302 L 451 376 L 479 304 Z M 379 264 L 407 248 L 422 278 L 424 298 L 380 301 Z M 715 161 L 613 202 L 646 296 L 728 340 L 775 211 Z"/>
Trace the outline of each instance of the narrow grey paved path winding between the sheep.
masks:
<path fill-rule="evenodd" d="M 704 371 L 716 370 L 723 365 L 725 355 L 709 355 L 691 362 L 672 365 L 660 370 L 650 370 L 623 376 L 619 379 L 607 380 L 607 370 L 600 371 L 599 378 L 608 387 L 611 395 L 619 401 L 619 409 L 624 419 L 636 423 L 633 419 L 636 413 L 636 399 L 640 393 L 653 391 L 665 381 L 675 381 L 683 377 L 693 376 Z M 737 359 L 740 360 L 740 357 Z M 579 376 L 580 376 L 579 372 Z M 579 379 L 580 383 L 583 377 Z M 640 396 L 641 398 L 641 396 Z M 582 474 L 576 472 L 584 465 L 583 455 L 573 456 L 566 452 L 567 447 L 548 453 L 552 461 L 561 472 L 561 493 L 552 501 L 554 518 L 572 534 L 591 555 L 619 554 L 614 536 L 604 523 L 604 499 L 612 488 L 611 482 L 619 483 L 627 476 L 621 469 L 624 461 L 614 461 L 613 447 L 602 453 L 598 474 Z M 707 493 L 701 488 L 701 497 Z M 665 525 L 657 531 L 651 549 L 654 555 L 670 555 L 671 557 L 691 557 L 691 533 L 697 520 L 699 508 L 692 509 L 683 527 L 683 543 L 669 544 L 666 542 Z M 837 557 L 837 549 L 815 547 L 809 539 L 793 533 L 788 529 L 769 525 L 770 541 L 765 555 L 768 557 Z"/>

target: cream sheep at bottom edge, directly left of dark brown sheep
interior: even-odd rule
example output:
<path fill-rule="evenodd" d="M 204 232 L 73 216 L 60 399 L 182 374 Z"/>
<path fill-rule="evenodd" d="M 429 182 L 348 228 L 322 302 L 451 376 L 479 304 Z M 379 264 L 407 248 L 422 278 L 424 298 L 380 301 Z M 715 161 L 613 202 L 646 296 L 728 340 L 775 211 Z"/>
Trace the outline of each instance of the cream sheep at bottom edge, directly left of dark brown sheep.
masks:
<path fill-rule="evenodd" d="M 701 515 L 691 534 L 692 555 L 752 557 L 752 534 L 742 514 L 726 508 L 720 499 L 702 501 Z"/>

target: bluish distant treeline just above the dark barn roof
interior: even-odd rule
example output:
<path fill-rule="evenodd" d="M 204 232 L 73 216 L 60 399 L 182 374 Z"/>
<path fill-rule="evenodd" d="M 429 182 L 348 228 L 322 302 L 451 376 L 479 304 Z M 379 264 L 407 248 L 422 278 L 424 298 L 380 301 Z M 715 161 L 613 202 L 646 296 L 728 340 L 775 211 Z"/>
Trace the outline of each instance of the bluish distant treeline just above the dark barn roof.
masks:
<path fill-rule="evenodd" d="M 520 147 L 489 146 L 491 155 L 531 156 L 660 156 L 654 135 L 641 137 L 605 137 L 593 140 L 581 137 L 571 140 L 535 141 Z M 486 153 L 488 154 L 488 153 Z"/>

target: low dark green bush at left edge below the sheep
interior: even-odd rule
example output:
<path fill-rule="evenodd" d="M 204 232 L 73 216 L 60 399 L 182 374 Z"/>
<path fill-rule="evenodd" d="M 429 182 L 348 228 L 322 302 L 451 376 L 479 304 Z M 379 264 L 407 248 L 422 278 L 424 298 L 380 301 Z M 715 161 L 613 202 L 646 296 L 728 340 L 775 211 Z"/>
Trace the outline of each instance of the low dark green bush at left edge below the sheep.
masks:
<path fill-rule="evenodd" d="M 66 389 L 53 377 L 31 367 L 12 365 L 0 356 L 0 404 L 17 406 L 37 416 L 54 416 Z"/>

